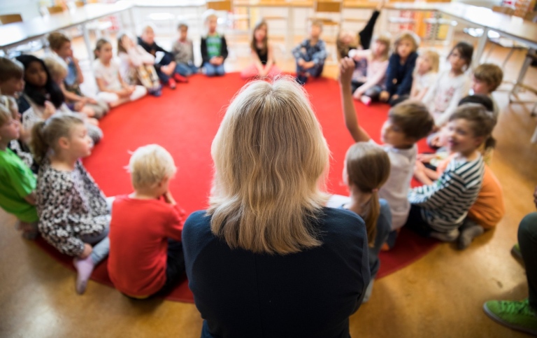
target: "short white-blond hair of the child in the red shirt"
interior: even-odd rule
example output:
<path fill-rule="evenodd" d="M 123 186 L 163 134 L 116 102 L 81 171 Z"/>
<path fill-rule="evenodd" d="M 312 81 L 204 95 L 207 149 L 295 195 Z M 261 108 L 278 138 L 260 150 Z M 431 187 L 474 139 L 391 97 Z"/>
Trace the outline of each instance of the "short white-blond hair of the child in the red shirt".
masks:
<path fill-rule="evenodd" d="M 129 173 L 134 190 L 155 188 L 164 178 L 173 177 L 176 171 L 173 157 L 168 150 L 158 144 L 136 149 L 129 161 Z"/>

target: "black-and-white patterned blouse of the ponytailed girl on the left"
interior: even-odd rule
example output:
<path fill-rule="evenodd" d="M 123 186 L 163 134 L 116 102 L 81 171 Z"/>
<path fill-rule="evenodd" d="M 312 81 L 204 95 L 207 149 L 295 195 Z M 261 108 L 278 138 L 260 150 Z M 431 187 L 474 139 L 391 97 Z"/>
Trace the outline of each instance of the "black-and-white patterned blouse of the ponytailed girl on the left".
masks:
<path fill-rule="evenodd" d="M 84 235 L 98 235 L 110 224 L 110 210 L 99 186 L 82 163 L 59 171 L 44 160 L 37 178 L 39 231 L 61 253 L 78 256 Z"/>

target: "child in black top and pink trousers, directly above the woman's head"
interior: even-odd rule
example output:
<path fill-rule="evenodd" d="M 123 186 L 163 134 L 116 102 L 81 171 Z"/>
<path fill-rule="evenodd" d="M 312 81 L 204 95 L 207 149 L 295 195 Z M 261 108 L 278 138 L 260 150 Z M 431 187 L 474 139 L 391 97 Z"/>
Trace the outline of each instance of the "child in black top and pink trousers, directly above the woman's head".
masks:
<path fill-rule="evenodd" d="M 273 48 L 268 43 L 268 26 L 260 21 L 254 27 L 250 49 L 254 62 L 241 72 L 242 78 L 255 78 L 256 76 L 273 78 L 282 71 L 275 65 Z"/>

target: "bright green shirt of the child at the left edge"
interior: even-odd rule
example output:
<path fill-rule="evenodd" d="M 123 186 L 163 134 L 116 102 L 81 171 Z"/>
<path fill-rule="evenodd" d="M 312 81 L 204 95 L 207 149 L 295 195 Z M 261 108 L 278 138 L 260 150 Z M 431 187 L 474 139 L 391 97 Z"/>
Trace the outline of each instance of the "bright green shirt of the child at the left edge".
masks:
<path fill-rule="evenodd" d="M 0 150 L 0 206 L 27 223 L 37 222 L 36 207 L 27 197 L 36 190 L 36 176 L 10 149 Z"/>

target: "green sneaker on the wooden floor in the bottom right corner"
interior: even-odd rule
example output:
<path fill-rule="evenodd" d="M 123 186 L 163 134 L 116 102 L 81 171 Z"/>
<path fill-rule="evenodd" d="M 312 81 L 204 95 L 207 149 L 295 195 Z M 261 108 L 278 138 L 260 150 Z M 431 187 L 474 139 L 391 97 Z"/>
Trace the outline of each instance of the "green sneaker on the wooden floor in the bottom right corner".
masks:
<path fill-rule="evenodd" d="M 501 325 L 537 335 L 537 313 L 529 307 L 529 300 L 489 300 L 483 304 L 483 310 Z"/>

